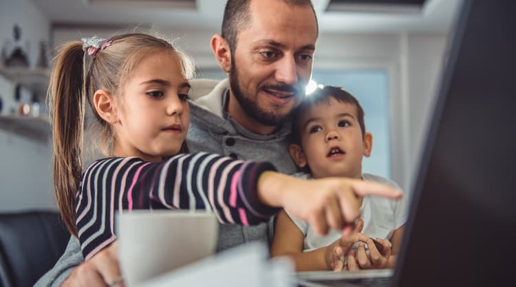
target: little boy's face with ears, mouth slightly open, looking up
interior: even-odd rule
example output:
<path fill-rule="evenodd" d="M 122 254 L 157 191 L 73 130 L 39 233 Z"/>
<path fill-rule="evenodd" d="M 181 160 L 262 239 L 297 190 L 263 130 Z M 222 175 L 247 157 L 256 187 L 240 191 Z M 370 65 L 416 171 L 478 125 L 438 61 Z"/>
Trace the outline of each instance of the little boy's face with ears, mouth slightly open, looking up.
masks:
<path fill-rule="evenodd" d="M 372 135 L 358 124 L 356 107 L 330 97 L 300 117 L 301 147 L 290 145 L 289 151 L 300 167 L 308 165 L 312 176 L 347 176 L 360 179 L 362 157 L 369 157 Z"/>

